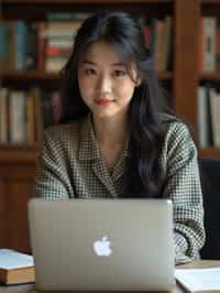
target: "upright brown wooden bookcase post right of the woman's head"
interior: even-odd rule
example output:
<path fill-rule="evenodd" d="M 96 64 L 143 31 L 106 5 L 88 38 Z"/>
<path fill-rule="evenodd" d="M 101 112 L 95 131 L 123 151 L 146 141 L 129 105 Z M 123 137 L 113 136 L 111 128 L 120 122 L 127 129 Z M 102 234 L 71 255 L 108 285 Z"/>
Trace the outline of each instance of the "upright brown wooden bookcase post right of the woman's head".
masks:
<path fill-rule="evenodd" d="M 174 107 L 196 128 L 199 44 L 199 0 L 176 0 Z"/>

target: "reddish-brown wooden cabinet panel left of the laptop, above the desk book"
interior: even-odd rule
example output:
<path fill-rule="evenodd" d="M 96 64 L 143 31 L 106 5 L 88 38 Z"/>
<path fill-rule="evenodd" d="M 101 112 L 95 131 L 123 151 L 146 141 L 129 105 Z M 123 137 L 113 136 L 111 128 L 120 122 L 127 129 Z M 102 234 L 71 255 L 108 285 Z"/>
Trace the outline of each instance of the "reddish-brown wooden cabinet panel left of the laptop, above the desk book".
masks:
<path fill-rule="evenodd" d="M 33 194 L 35 161 L 0 161 L 0 247 L 30 252 L 26 204 Z"/>

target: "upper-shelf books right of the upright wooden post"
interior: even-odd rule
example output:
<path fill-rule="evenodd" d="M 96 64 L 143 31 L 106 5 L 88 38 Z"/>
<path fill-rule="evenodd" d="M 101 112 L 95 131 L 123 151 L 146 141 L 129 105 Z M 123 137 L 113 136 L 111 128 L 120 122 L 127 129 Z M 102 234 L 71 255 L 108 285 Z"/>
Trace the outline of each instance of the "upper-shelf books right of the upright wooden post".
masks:
<path fill-rule="evenodd" d="M 199 70 L 220 72 L 220 19 L 200 18 Z"/>

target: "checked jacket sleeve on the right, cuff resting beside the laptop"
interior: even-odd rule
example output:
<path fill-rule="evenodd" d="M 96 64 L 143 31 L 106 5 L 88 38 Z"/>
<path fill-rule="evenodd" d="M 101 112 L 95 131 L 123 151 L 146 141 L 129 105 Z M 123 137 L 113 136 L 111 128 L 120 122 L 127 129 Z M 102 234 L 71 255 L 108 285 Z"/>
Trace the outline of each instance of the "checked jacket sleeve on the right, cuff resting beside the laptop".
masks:
<path fill-rule="evenodd" d="M 173 200 L 176 263 L 182 263 L 197 258 L 205 243 L 197 149 L 187 127 L 179 122 L 169 127 L 165 145 L 164 197 Z"/>

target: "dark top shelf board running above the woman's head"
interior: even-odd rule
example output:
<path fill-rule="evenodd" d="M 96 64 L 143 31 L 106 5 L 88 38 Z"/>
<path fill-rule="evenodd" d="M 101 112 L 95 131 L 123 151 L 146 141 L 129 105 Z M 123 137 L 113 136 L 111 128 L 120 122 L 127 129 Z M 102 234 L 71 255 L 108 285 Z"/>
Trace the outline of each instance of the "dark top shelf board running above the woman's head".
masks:
<path fill-rule="evenodd" d="M 46 14 L 52 11 L 92 13 L 107 9 L 163 17 L 173 14 L 174 2 L 174 0 L 2 0 L 1 8 L 4 19 L 22 18 L 26 21 L 40 21 L 46 20 Z"/>

